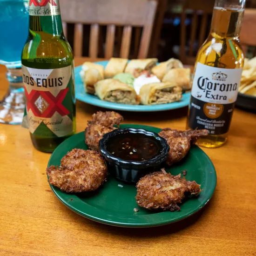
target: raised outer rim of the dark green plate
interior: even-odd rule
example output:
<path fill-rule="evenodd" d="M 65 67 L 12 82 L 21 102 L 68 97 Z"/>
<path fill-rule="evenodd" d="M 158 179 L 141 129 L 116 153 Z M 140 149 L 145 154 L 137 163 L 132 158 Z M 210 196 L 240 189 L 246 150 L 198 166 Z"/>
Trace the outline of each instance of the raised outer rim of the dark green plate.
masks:
<path fill-rule="evenodd" d="M 141 126 L 142 128 L 144 129 L 147 129 L 148 128 L 157 128 L 157 127 L 153 127 L 153 126 L 147 126 L 147 125 L 139 125 L 139 124 L 123 124 L 125 126 L 127 125 L 133 125 L 133 126 Z M 160 129 L 160 128 L 157 128 L 157 129 Z M 75 134 L 71 137 L 69 137 L 67 140 L 63 141 L 55 150 L 54 152 L 57 152 L 58 151 L 58 148 L 61 148 L 63 147 L 63 143 L 68 143 L 68 140 L 72 140 L 71 138 L 74 139 L 74 136 L 76 137 L 80 137 L 81 135 L 84 135 L 84 132 L 80 132 L 78 134 Z M 111 225 L 111 226 L 118 226 L 118 227 L 129 227 L 129 228 L 150 228 L 150 227 L 157 227 L 157 226 L 162 226 L 162 225 L 167 225 L 167 224 L 170 224 L 170 223 L 174 223 L 174 222 L 178 222 L 178 221 L 181 221 L 185 218 L 188 218 L 189 216 L 192 216 L 194 215 L 196 212 L 198 212 L 199 210 L 201 210 L 208 202 L 209 200 L 211 199 L 211 197 L 213 196 L 214 194 L 214 191 L 216 189 L 216 183 L 217 183 L 217 175 L 216 175 L 216 169 L 212 163 L 212 161 L 210 160 L 209 156 L 201 149 L 199 148 L 198 146 L 195 145 L 195 147 L 197 147 L 197 149 L 199 149 L 199 151 L 202 151 L 202 153 L 206 156 L 207 160 L 208 160 L 208 164 L 211 165 L 211 169 L 214 170 L 214 172 L 212 172 L 211 175 L 211 179 L 212 179 L 212 182 L 214 182 L 214 184 L 211 184 L 211 187 L 210 187 L 210 191 L 209 191 L 209 195 L 210 196 L 207 196 L 207 198 L 200 204 L 200 206 L 197 206 L 193 211 L 189 211 L 189 214 L 186 214 L 185 216 L 182 215 L 181 217 L 178 217 L 178 218 L 175 218 L 175 220 L 171 220 L 171 218 L 169 219 L 165 219 L 163 221 L 158 221 L 158 222 L 155 222 L 155 223 L 147 223 L 147 222 L 144 222 L 144 223 L 128 223 L 128 222 L 116 222 L 116 221 L 113 221 L 113 220 L 106 220 L 106 219 L 102 219 L 101 217 L 95 217 L 93 216 L 93 214 L 91 214 L 90 212 L 89 213 L 85 213 L 85 212 L 82 212 L 80 209 L 77 208 L 76 204 L 77 203 L 80 203 L 80 202 L 72 202 L 72 204 L 70 204 L 69 202 L 67 202 L 67 200 L 65 198 L 62 198 L 61 195 L 59 195 L 59 191 L 55 189 L 55 187 L 51 184 L 50 187 L 51 189 L 53 190 L 54 194 L 57 196 L 57 198 L 69 209 L 71 209 L 72 211 L 74 211 L 75 213 L 79 214 L 80 216 L 83 216 L 83 217 L 86 217 L 90 220 L 93 220 L 93 221 L 96 221 L 96 222 L 100 222 L 100 223 L 103 223 L 103 224 L 107 224 L 107 225 Z M 54 157 L 54 152 L 53 154 L 50 156 L 50 159 L 48 161 L 48 164 L 47 164 L 47 167 L 50 166 L 50 162 L 52 161 L 52 158 Z M 56 154 L 56 153 L 55 153 Z M 207 172 L 204 172 L 205 174 L 207 174 Z M 77 197 L 80 201 L 82 201 L 77 195 L 75 194 L 67 194 L 67 195 L 72 195 L 72 197 L 74 198 Z M 88 204 L 87 204 L 88 205 Z M 91 206 L 93 207 L 93 206 Z M 93 207 L 94 208 L 94 207 Z M 96 209 L 98 210 L 99 212 L 104 212 L 102 211 L 101 209 Z M 93 211 L 95 211 L 95 209 L 93 209 Z M 157 213 L 157 214 L 161 214 L 163 212 L 160 212 L 160 213 Z M 140 215 L 138 215 L 140 216 Z M 138 217 L 137 216 L 137 217 Z M 115 219 L 118 219 L 118 217 L 115 217 Z"/>

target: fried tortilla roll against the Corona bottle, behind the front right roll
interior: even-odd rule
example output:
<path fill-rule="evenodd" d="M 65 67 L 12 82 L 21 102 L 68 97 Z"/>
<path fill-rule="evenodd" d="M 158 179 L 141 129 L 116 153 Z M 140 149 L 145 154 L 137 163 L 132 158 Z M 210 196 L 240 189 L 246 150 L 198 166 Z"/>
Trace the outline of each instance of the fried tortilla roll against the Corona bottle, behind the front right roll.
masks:
<path fill-rule="evenodd" d="M 191 89 L 190 68 L 172 68 L 164 75 L 162 82 L 170 82 L 184 90 Z"/>

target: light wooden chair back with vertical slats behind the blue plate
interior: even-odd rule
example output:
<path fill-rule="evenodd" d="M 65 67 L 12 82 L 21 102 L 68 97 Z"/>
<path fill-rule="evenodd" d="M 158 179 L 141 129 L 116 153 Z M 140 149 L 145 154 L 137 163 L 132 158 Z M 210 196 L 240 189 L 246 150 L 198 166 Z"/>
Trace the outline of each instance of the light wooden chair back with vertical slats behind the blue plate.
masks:
<path fill-rule="evenodd" d="M 138 58 L 146 58 L 157 7 L 156 0 L 61 0 L 64 34 L 67 23 L 74 23 L 74 56 L 82 55 L 83 25 L 91 24 L 89 57 L 98 56 L 100 26 L 107 25 L 105 58 L 113 56 L 116 26 L 123 26 L 120 57 L 128 58 L 132 27 L 143 29 Z"/>

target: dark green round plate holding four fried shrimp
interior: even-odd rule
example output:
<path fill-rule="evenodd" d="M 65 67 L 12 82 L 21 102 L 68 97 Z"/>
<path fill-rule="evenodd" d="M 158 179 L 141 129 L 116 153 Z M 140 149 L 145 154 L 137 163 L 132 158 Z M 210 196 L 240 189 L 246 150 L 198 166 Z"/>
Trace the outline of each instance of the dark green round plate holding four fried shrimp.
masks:
<path fill-rule="evenodd" d="M 121 128 L 144 128 L 152 132 L 161 129 L 135 124 L 123 124 Z M 48 162 L 50 165 L 60 165 L 61 158 L 73 148 L 88 149 L 84 142 L 84 132 L 73 135 L 54 150 Z M 108 176 L 98 190 L 94 192 L 67 194 L 52 185 L 55 195 L 69 209 L 88 219 L 121 227 L 154 227 L 180 221 L 199 211 L 209 202 L 216 187 L 216 171 L 209 157 L 197 146 L 192 146 L 188 155 L 178 164 L 167 168 L 173 175 L 186 169 L 186 179 L 201 184 L 202 192 L 198 197 L 191 197 L 181 204 L 179 212 L 153 212 L 139 207 L 135 201 L 135 185 L 122 183 Z M 134 212 L 138 208 L 138 212 Z"/>

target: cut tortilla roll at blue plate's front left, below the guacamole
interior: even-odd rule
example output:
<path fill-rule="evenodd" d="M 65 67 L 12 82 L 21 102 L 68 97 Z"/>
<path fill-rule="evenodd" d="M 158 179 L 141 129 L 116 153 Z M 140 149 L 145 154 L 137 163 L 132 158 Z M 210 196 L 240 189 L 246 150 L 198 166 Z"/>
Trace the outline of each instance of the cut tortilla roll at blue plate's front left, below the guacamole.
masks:
<path fill-rule="evenodd" d="M 95 94 L 103 101 L 136 105 L 140 98 L 134 88 L 115 79 L 105 79 L 94 85 Z"/>

